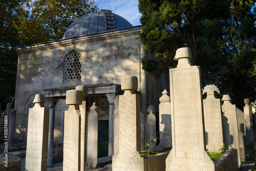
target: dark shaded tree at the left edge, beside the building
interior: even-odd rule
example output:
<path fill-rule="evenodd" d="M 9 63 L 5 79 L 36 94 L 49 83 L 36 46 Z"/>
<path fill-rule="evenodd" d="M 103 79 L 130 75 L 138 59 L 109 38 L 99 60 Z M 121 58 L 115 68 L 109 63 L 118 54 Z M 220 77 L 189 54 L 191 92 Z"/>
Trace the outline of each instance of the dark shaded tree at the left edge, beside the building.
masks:
<path fill-rule="evenodd" d="M 0 102 L 2 105 L 12 102 L 15 94 L 17 54 L 14 48 L 20 44 L 14 23 L 17 22 L 18 16 L 25 12 L 25 6 L 25 0 L 0 1 Z"/>

